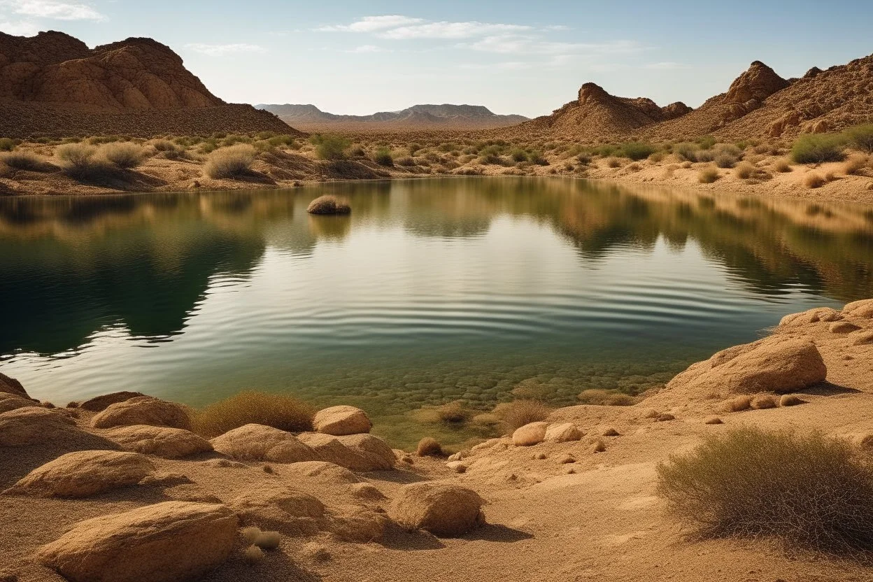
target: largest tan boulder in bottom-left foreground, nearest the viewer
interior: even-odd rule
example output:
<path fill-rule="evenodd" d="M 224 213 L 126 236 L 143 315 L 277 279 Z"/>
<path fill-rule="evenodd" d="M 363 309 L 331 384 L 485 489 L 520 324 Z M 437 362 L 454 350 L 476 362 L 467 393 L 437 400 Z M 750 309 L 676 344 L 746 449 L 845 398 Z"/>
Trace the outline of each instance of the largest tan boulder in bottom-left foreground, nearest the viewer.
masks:
<path fill-rule="evenodd" d="M 37 558 L 72 582 L 182 582 L 228 558 L 237 524 L 224 505 L 168 501 L 79 522 Z"/>

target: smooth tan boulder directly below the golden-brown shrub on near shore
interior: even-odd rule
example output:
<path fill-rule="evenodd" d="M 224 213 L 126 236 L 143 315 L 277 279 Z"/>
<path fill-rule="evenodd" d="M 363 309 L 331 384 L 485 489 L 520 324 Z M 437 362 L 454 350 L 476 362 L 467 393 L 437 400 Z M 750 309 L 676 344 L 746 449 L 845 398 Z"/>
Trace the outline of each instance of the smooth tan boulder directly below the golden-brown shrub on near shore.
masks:
<path fill-rule="evenodd" d="M 211 441 L 219 453 L 243 461 L 299 462 L 318 458 L 291 433 L 263 424 L 246 424 Z"/>

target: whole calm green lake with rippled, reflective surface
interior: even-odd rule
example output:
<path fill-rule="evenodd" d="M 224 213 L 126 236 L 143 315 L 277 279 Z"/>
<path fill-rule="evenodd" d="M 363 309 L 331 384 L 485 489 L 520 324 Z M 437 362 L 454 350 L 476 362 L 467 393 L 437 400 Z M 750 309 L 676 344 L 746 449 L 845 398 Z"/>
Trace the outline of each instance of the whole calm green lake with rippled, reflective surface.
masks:
<path fill-rule="evenodd" d="M 353 214 L 306 205 L 347 195 Z M 410 411 L 638 392 L 791 312 L 873 296 L 873 208 L 462 178 L 0 199 L 0 368 L 63 404 L 242 388 Z"/>

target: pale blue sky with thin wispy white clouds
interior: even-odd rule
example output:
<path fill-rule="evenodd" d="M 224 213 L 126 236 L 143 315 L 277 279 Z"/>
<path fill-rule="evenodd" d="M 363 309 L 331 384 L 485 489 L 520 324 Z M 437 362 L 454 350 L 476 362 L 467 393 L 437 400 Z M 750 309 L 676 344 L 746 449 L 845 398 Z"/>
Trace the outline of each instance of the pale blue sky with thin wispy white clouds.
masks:
<path fill-rule="evenodd" d="M 551 113 L 588 81 L 699 106 L 753 60 L 783 77 L 873 53 L 873 2 L 0 0 L 0 31 L 155 38 L 218 97 L 330 113 Z"/>

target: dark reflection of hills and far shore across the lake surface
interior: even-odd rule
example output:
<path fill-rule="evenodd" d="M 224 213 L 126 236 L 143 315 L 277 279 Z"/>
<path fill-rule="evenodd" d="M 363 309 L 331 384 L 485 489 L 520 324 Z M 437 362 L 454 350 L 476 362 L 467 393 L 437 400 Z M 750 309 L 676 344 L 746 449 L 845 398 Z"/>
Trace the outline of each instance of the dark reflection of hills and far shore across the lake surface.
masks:
<path fill-rule="evenodd" d="M 352 197 L 353 215 L 308 216 L 306 203 L 326 192 Z M 180 332 L 210 277 L 248 276 L 266 246 L 309 257 L 357 229 L 482 236 L 500 215 L 548 225 L 592 268 L 663 237 L 675 249 L 696 241 L 756 293 L 800 283 L 849 300 L 873 289 L 873 213 L 839 204 L 512 178 L 10 198 L 0 199 L 0 353 L 62 352 L 119 323 L 151 338 Z"/>

